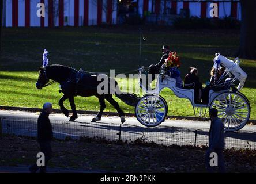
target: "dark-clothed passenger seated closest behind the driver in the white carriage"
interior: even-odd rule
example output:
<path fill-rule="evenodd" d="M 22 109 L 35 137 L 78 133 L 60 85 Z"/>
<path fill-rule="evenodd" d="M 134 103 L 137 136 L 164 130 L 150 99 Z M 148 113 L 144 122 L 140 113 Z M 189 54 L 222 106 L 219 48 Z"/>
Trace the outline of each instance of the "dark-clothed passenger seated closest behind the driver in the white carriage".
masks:
<path fill-rule="evenodd" d="M 185 79 L 184 79 L 184 88 L 185 89 L 194 89 L 195 103 L 199 104 L 201 102 L 202 82 L 199 81 L 197 68 L 195 68 L 195 67 L 189 68 L 189 73 L 185 76 Z"/>

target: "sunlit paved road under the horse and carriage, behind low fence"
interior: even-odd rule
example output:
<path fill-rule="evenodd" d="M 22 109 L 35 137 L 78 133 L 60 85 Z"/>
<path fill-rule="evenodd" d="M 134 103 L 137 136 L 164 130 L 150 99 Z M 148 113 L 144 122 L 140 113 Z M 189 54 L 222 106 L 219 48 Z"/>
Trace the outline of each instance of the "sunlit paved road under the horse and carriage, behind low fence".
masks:
<path fill-rule="evenodd" d="M 15 135 L 36 136 L 36 121 L 39 113 L 0 110 L 3 132 Z M 70 136 L 78 139 L 81 136 L 106 137 L 109 140 L 119 139 L 121 121 L 119 117 L 102 117 L 100 122 L 91 122 L 93 116 L 78 115 L 75 122 L 69 122 L 63 114 L 51 114 L 50 119 L 54 136 L 63 139 Z M 210 123 L 207 121 L 165 120 L 161 125 L 146 128 L 136 118 L 127 117 L 121 128 L 121 139 L 133 141 L 141 138 L 158 144 L 205 145 L 208 142 Z M 256 125 L 246 125 L 237 132 L 225 133 L 226 147 L 256 148 Z"/>

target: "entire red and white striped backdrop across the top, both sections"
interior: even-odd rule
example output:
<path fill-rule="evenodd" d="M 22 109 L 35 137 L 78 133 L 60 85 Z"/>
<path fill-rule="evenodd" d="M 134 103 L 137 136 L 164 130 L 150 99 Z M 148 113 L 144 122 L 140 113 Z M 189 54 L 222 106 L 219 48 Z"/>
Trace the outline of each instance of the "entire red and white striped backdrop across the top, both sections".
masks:
<path fill-rule="evenodd" d="M 5 26 L 82 26 L 100 25 L 103 22 L 116 24 L 117 1 L 119 0 L 3 0 L 3 24 Z M 164 0 L 138 0 L 139 13 L 152 10 L 155 14 L 162 14 Z M 37 17 L 37 3 L 44 3 L 46 7 L 45 17 Z M 190 16 L 210 17 L 210 3 L 216 2 L 219 6 L 219 18 L 230 16 L 240 20 L 239 1 L 174 1 L 167 0 L 167 7 L 174 9 L 179 14 L 180 9 L 189 9 Z M 57 4 L 57 16 L 54 16 L 53 5 Z M 231 12 L 232 6 L 232 12 Z M 108 10 L 107 14 L 105 10 Z M 54 25 L 55 24 L 55 25 Z"/>

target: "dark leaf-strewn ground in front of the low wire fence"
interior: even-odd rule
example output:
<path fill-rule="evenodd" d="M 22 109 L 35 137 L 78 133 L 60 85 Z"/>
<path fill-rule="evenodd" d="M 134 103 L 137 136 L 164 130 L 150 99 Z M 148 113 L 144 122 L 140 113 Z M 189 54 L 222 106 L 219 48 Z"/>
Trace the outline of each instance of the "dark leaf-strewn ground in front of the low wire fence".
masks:
<path fill-rule="evenodd" d="M 34 139 L 3 137 L 0 140 L 1 164 L 32 164 L 39 151 Z M 144 143 L 116 144 L 96 137 L 80 141 L 53 141 L 54 153 L 50 165 L 85 170 L 134 172 L 201 172 L 205 171 L 206 147 L 171 145 L 170 147 Z M 255 172 L 256 151 L 250 149 L 225 150 L 227 171 Z"/>

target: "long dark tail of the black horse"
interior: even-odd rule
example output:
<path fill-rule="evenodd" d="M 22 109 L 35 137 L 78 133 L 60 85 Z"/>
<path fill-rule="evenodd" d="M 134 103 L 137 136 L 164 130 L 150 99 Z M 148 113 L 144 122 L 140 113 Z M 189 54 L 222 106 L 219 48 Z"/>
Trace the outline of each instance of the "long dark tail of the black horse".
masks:
<path fill-rule="evenodd" d="M 130 106 L 136 106 L 138 100 L 140 99 L 136 94 L 122 93 L 116 81 L 115 81 L 115 96 L 121 99 L 123 102 L 125 102 L 125 104 Z"/>

